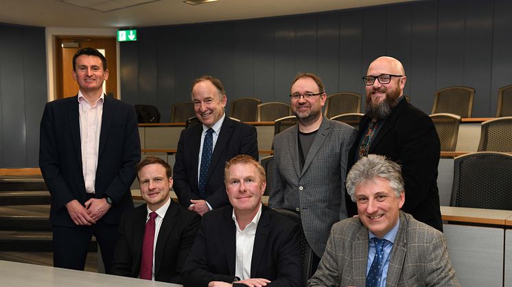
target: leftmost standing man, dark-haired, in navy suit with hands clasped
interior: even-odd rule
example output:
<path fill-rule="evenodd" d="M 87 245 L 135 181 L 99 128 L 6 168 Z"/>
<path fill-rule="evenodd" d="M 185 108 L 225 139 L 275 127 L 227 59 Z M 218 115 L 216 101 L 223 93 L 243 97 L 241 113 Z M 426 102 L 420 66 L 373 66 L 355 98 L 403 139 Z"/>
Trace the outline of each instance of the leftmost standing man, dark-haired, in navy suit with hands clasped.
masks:
<path fill-rule="evenodd" d="M 105 97 L 108 69 L 96 49 L 77 51 L 73 79 L 78 95 L 47 103 L 40 124 L 54 266 L 83 270 L 94 234 L 108 273 L 121 213 L 133 208 L 130 185 L 141 158 L 137 115 L 132 105 Z"/>

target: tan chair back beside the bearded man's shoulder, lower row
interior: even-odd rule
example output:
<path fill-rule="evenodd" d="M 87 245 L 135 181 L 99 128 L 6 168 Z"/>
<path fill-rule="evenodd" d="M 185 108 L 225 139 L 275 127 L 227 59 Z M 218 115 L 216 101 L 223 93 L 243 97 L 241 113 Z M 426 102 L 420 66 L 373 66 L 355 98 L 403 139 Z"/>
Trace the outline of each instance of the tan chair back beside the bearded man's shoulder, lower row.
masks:
<path fill-rule="evenodd" d="M 456 114 L 431 114 L 432 122 L 436 127 L 437 136 L 441 142 L 441 151 L 455 151 L 458 138 L 458 126 L 461 125 L 461 116 Z"/>

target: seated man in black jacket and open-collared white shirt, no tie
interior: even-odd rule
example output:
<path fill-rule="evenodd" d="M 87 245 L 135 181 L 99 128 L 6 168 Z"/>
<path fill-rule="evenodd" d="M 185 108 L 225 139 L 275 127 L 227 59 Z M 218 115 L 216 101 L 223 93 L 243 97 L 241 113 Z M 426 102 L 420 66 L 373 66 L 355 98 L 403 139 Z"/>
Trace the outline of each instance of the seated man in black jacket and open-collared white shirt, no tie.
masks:
<path fill-rule="evenodd" d="M 265 178 L 248 155 L 226 163 L 224 182 L 233 206 L 203 216 L 183 270 L 185 286 L 301 286 L 299 226 L 261 204 Z"/>

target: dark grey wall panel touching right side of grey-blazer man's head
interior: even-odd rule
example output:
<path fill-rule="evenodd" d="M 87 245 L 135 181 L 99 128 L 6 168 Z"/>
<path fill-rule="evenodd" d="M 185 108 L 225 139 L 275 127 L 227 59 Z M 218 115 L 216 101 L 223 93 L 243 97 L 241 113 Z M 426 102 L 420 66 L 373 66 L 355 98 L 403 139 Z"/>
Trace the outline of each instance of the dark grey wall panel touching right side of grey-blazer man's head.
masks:
<path fill-rule="evenodd" d="M 340 32 L 338 13 L 318 16 L 316 72 L 325 85 L 327 95 L 340 92 Z"/>

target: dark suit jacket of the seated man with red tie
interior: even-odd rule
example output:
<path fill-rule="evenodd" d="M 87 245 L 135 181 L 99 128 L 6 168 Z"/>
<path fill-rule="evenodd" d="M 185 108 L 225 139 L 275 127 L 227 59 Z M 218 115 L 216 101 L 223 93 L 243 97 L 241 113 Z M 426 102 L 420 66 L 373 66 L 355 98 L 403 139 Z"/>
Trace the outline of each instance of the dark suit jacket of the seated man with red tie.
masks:
<path fill-rule="evenodd" d="M 141 269 L 142 243 L 146 230 L 148 208 L 143 204 L 124 212 L 119 223 L 110 272 L 113 275 L 137 278 Z M 154 279 L 181 284 L 181 270 L 194 244 L 201 216 L 183 206 L 171 204 L 165 212 L 154 251 Z"/>

